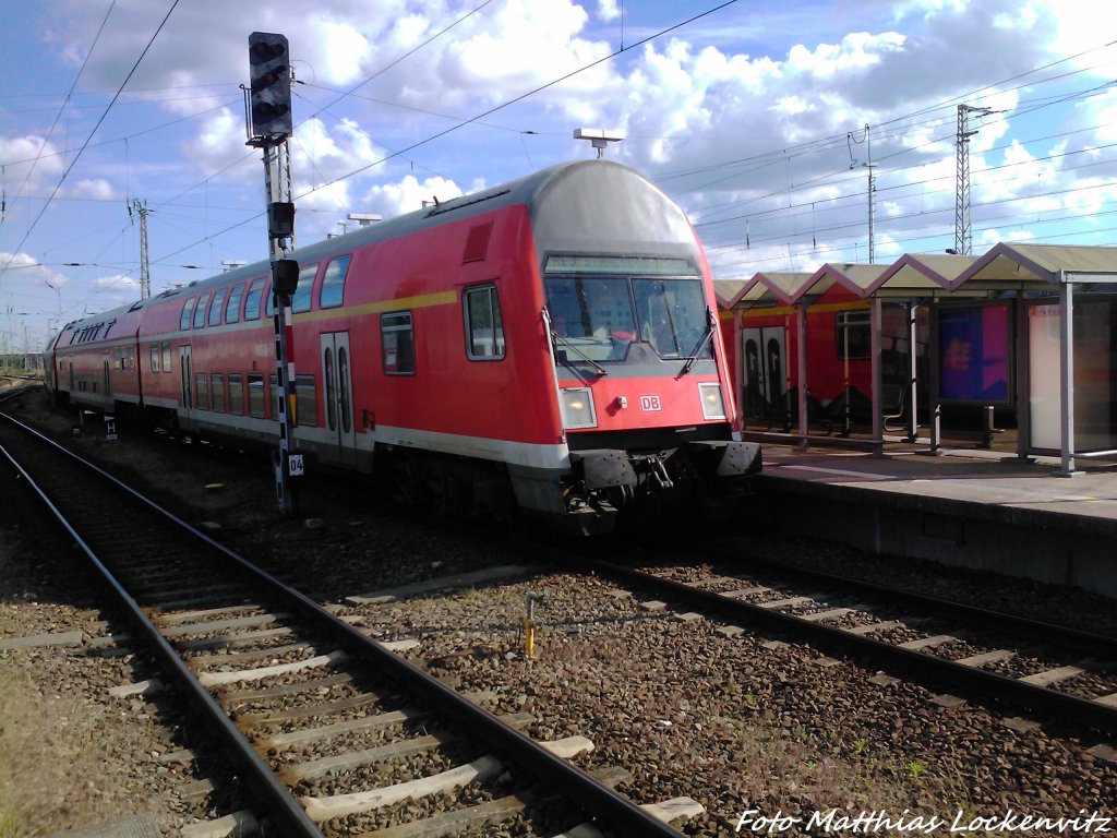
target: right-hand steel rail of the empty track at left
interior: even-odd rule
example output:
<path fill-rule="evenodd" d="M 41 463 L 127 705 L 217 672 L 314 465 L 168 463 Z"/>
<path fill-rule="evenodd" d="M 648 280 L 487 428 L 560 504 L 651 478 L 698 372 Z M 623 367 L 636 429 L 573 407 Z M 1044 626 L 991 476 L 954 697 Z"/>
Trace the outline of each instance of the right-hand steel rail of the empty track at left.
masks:
<path fill-rule="evenodd" d="M 383 672 L 386 672 L 390 677 L 403 683 L 409 688 L 422 694 L 424 697 L 432 698 L 443 712 L 448 715 L 452 715 L 459 722 L 467 725 L 468 730 L 472 733 L 484 739 L 499 752 L 513 756 L 537 778 L 551 783 L 551 789 L 572 799 L 588 812 L 591 812 L 602 821 L 607 822 L 612 829 L 619 829 L 626 834 L 640 836 L 641 838 L 643 838 L 643 836 L 655 838 L 681 838 L 681 832 L 655 818 L 628 798 L 617 794 L 609 787 L 590 777 L 567 760 L 561 756 L 555 756 L 529 736 L 519 733 L 491 713 L 476 706 L 468 698 L 456 693 L 450 687 L 447 687 L 445 684 L 419 667 L 409 663 L 395 653 L 385 649 L 375 640 L 350 626 L 341 618 L 330 611 L 326 611 L 314 600 L 284 584 L 267 571 L 257 568 L 248 560 L 226 547 L 223 544 L 220 544 L 211 539 L 208 534 L 182 521 L 172 512 L 162 508 L 150 498 L 144 497 L 142 494 L 133 489 L 131 486 L 122 483 L 113 475 L 57 445 L 54 440 L 39 434 L 34 428 L 29 428 L 7 415 L 0 413 L 0 416 L 4 416 L 4 418 L 9 421 L 44 439 L 46 442 L 57 448 L 60 453 L 71 457 L 86 468 L 97 473 L 122 492 L 146 504 L 166 520 L 181 526 L 185 532 L 189 532 L 194 539 L 203 542 L 207 546 L 218 551 L 225 558 L 235 562 L 239 568 L 251 574 L 257 581 L 262 582 L 269 589 L 269 593 L 284 600 L 288 607 L 295 611 L 309 616 L 314 620 L 327 626 L 331 631 L 340 638 L 344 646 L 352 650 L 356 650 L 365 659 L 371 658 L 379 667 L 381 667 Z M 11 459 L 10 456 L 9 459 Z M 132 606 L 135 607 L 135 603 L 132 602 Z M 165 640 L 162 642 L 163 645 L 166 645 Z M 166 645 L 166 648 L 170 649 L 170 646 Z M 175 657 L 178 656 L 175 655 Z M 184 666 L 181 660 L 179 660 L 179 665 Z M 197 678 L 193 678 L 192 675 L 191 678 L 195 684 L 198 684 Z M 209 693 L 206 692 L 200 684 L 198 684 L 198 689 L 204 694 L 209 702 L 212 702 Z M 216 706 L 216 702 L 212 703 Z M 231 726 L 231 722 L 229 725 Z M 233 727 L 232 730 L 236 729 Z M 239 736 L 239 733 L 237 735 Z M 255 751 L 252 754 L 256 755 Z M 256 756 L 256 759 L 258 760 L 259 758 Z M 265 765 L 265 768 L 267 766 Z M 268 772 L 271 773 L 270 769 L 268 769 Z M 276 782 L 278 781 L 276 780 Z M 289 800 L 294 800 L 286 789 L 284 789 L 284 793 Z M 305 817 L 302 809 L 299 809 L 299 813 Z M 317 835 L 317 832 L 308 835 Z"/>

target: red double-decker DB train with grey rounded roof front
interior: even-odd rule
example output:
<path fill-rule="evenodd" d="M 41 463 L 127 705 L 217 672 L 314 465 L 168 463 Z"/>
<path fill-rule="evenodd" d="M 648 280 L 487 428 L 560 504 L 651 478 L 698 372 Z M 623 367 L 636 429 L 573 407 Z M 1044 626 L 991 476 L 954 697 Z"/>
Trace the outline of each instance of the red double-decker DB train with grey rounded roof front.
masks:
<path fill-rule="evenodd" d="M 400 496 L 612 530 L 716 507 L 760 468 L 701 247 L 608 161 L 545 169 L 296 250 L 295 445 Z M 70 324 L 57 391 L 276 437 L 268 263 Z"/>

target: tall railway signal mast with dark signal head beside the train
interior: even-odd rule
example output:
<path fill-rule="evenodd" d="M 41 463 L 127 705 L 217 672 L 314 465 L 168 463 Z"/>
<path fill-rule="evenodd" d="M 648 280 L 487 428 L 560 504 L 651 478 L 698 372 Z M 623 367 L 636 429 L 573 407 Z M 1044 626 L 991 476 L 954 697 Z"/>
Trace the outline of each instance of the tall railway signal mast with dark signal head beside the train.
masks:
<path fill-rule="evenodd" d="M 287 258 L 295 247 L 295 203 L 290 200 L 290 159 L 287 149 L 287 139 L 294 133 L 290 114 L 290 50 L 287 38 L 275 32 L 249 35 L 248 68 L 250 89 L 246 106 L 247 144 L 264 152 L 268 253 L 271 258 L 271 296 L 275 308 L 273 323 L 279 406 L 279 449 L 275 457 L 276 502 L 283 514 L 289 515 L 295 512 L 290 478 L 303 475 L 303 455 L 296 453 L 293 445 L 295 359 L 290 298 L 298 286 L 298 263 Z M 286 170 L 286 180 L 281 177 L 283 170 Z"/>

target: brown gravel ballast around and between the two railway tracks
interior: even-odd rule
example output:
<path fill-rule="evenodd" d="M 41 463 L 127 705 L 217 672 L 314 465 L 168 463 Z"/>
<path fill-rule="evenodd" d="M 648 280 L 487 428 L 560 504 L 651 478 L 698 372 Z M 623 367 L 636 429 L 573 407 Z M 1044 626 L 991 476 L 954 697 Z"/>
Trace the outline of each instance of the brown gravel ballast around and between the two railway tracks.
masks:
<path fill-rule="evenodd" d="M 38 394 L 25 398 L 20 410 L 59 436 L 68 432 L 68 419 L 49 411 Z M 767 834 L 754 829 L 756 819 L 777 813 L 791 819 L 784 834 L 804 834 L 812 817 L 814 832 L 822 834 L 818 819 L 832 810 L 892 818 L 906 810 L 907 817 L 944 820 L 934 830 L 943 835 L 960 811 L 963 825 L 976 817 L 1002 818 L 1010 810 L 1052 818 L 1096 810 L 1117 817 L 1117 765 L 1087 752 L 1106 744 L 1087 731 L 1042 724 L 1040 717 L 1033 720 L 1041 722 L 1035 726 L 1008 726 L 1006 717 L 1027 716 L 1019 708 L 974 703 L 943 707 L 932 701 L 943 692 L 934 685 L 882 683 L 887 679 L 863 665 L 830 661 L 792 638 L 747 627 L 725 637 L 719 631 L 725 626 L 715 619 L 682 619 L 671 608 L 648 610 L 639 591 L 561 568 L 456 592 L 346 604 L 346 597 L 421 579 L 528 564 L 538 551 L 531 542 L 493 542 L 452 525 L 428 525 L 344 484 L 313 484 L 302 515 L 280 521 L 262 459 L 254 467 L 223 455 L 198 457 L 197 442 L 172 445 L 126 431 L 114 446 L 98 445 L 88 434 L 76 442 L 126 472 L 126 479 L 154 478 L 184 517 L 211 522 L 214 537 L 340 613 L 359 618 L 378 639 L 420 640 L 404 653 L 410 660 L 462 692 L 493 691 L 495 698 L 485 706 L 494 712 L 533 714 L 532 735 L 590 737 L 595 747 L 576 758 L 577 763 L 628 769 L 632 779 L 619 788 L 637 802 L 694 798 L 706 815 L 679 827 L 688 835 L 729 835 L 738 825 L 742 832 Z M 212 488 L 214 484 L 220 487 Z M 3 491 L 15 494 L 11 484 Z M 95 583 L 73 569 L 65 542 L 49 541 L 32 526 L 34 506 L 18 505 L 17 511 L 0 521 L 0 638 L 66 630 L 103 634 L 97 623 L 106 616 L 97 610 L 103 600 Z M 827 570 L 860 572 L 875 581 L 901 578 L 917 590 L 1011 606 L 1040 619 L 1086 622 L 1092 630 L 1113 611 L 1111 603 L 1101 609 L 1097 598 L 1067 589 L 863 556 L 833 545 L 756 541 L 754 547 L 777 558 L 782 551 L 804 563 L 813 556 Z M 639 558 L 643 551 L 633 552 Z M 665 570 L 678 578 L 696 573 L 694 564 L 657 568 Z M 728 574 L 732 569 L 720 559 L 717 571 Z M 543 591 L 546 597 L 535 611 L 536 654 L 527 658 L 524 606 L 528 592 Z M 1100 630 L 1113 631 L 1113 626 Z M 189 725 L 161 717 L 157 705 L 143 699 L 105 698 L 112 684 L 152 677 L 142 655 L 13 649 L 0 651 L 0 673 L 8 708 L 7 724 L 0 727 L 3 753 L 19 754 L 26 760 L 20 764 L 58 765 L 57 771 L 41 771 L 41 782 L 28 794 L 19 784 L 23 772 L 0 760 L 0 794 L 6 796 L 0 803 L 21 807 L 11 809 L 15 835 L 128 811 L 155 812 L 160 829 L 173 835 L 184 823 L 225 813 L 222 806 L 231 806 L 213 796 L 200 802 L 184 799 L 183 787 L 198 780 L 195 769 L 168 766 L 150 755 L 190 746 L 183 744 Z M 32 708 L 41 714 L 34 722 L 39 735 L 21 734 L 15 723 L 20 707 L 28 715 Z M 76 773 L 87 774 L 94 788 L 67 779 L 75 774 L 68 754 L 83 753 L 89 754 L 90 766 Z M 386 766 L 382 777 L 363 771 L 375 784 L 389 775 L 409 777 L 416 764 Z M 315 781 L 309 788 L 330 789 L 331 782 Z M 428 802 L 418 810 L 443 804 Z M 832 826 L 840 815 L 830 817 Z M 365 827 L 370 822 L 361 821 Z M 773 834 L 781 831 L 775 826 Z M 528 827 L 522 819 L 475 834 L 525 835 Z M 976 834 L 955 834 L 966 831 Z M 916 830 L 876 830 L 901 832 Z"/>

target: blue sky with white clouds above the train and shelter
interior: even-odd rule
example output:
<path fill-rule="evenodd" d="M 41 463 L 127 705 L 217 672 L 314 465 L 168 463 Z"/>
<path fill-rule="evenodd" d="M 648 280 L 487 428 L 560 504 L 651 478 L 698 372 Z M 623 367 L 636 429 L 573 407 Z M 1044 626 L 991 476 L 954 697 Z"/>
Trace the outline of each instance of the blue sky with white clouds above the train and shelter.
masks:
<path fill-rule="evenodd" d="M 876 260 L 942 251 L 958 104 L 992 112 L 971 117 L 975 253 L 1117 244 L 1102 0 L 0 0 L 0 351 L 139 296 L 136 201 L 153 293 L 266 256 L 252 30 L 290 41 L 300 245 L 591 156 L 590 126 L 626 133 L 608 156 L 679 201 L 718 278 L 866 261 L 870 154 Z"/>

